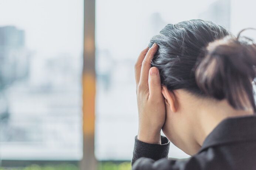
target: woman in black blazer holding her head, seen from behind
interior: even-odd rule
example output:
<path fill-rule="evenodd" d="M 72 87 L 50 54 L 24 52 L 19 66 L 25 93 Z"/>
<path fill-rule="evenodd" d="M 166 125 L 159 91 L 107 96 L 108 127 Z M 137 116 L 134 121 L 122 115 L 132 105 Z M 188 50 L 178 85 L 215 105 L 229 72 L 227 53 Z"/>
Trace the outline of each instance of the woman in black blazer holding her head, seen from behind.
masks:
<path fill-rule="evenodd" d="M 183 21 L 140 53 L 133 170 L 256 169 L 256 45 L 240 33 Z M 191 157 L 166 159 L 170 141 Z"/>

